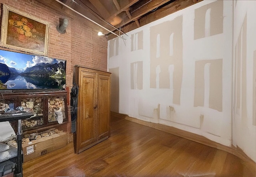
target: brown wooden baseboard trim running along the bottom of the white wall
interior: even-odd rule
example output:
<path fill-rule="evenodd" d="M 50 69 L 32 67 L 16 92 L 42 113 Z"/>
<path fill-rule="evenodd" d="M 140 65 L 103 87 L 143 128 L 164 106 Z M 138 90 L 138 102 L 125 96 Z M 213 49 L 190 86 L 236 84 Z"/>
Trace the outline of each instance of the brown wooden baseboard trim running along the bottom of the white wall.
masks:
<path fill-rule="evenodd" d="M 114 115 L 118 116 L 118 113 L 114 113 Z M 124 117 L 124 114 L 120 114 L 120 118 L 123 118 L 123 117 Z M 250 157 L 248 157 L 242 151 L 242 149 L 240 149 L 239 147 L 236 148 L 234 146 L 232 146 L 232 147 L 224 146 L 222 144 L 219 144 L 217 142 L 209 140 L 209 139 L 205 138 L 204 136 L 193 134 L 191 132 L 186 132 L 184 130 L 180 130 L 178 128 L 174 128 L 174 127 L 171 127 L 171 126 L 166 126 L 166 125 L 163 125 L 163 124 L 156 124 L 156 123 L 152 123 L 152 122 L 146 122 L 144 120 L 139 120 L 137 118 L 132 118 L 132 117 L 127 116 L 127 115 L 125 116 L 125 120 L 129 120 L 129 121 L 132 121 L 132 122 L 135 122 L 135 123 L 138 123 L 138 124 L 142 124 L 144 126 L 155 128 L 157 130 L 161 130 L 163 132 L 167 132 L 167 133 L 170 133 L 170 134 L 182 137 L 182 138 L 186 138 L 188 140 L 192 140 L 194 142 L 198 142 L 200 144 L 204 144 L 204 145 L 210 146 L 212 148 L 216 148 L 216 149 L 219 149 L 219 150 L 222 150 L 222 151 L 226 151 L 226 152 L 228 152 L 230 154 L 233 154 L 236 157 L 240 158 L 242 161 L 244 161 L 244 163 L 246 163 L 246 167 L 248 168 L 247 170 L 254 171 L 254 173 L 256 171 L 256 163 L 252 159 L 250 159 Z"/>

